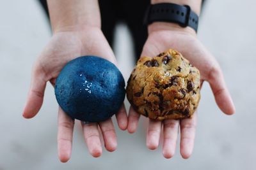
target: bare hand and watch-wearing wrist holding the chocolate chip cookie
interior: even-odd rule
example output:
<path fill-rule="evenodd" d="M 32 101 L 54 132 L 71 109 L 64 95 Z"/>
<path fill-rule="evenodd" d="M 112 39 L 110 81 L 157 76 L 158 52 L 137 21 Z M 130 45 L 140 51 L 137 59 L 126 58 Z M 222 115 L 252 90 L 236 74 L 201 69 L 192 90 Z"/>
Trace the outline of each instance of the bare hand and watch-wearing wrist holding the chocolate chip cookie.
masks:
<path fill-rule="evenodd" d="M 200 0 L 152 0 L 156 3 L 187 4 L 191 10 L 200 14 Z M 216 103 L 223 113 L 232 115 L 235 107 L 228 92 L 227 86 L 220 65 L 212 54 L 196 38 L 196 32 L 190 27 L 180 27 L 177 24 L 166 22 L 154 22 L 148 25 L 148 38 L 143 47 L 141 56 L 154 57 L 158 53 L 173 48 L 182 53 L 191 64 L 200 70 L 201 83 L 208 81 L 211 85 Z M 132 107 L 129 109 L 127 130 L 131 133 L 136 131 L 140 114 L 136 113 Z M 155 150 L 159 145 L 161 131 L 163 132 L 163 156 L 167 159 L 173 157 L 177 143 L 177 136 L 180 129 L 180 155 L 188 159 L 193 151 L 196 132 L 197 113 L 193 118 L 182 120 L 148 120 L 147 146 L 150 150 Z"/>

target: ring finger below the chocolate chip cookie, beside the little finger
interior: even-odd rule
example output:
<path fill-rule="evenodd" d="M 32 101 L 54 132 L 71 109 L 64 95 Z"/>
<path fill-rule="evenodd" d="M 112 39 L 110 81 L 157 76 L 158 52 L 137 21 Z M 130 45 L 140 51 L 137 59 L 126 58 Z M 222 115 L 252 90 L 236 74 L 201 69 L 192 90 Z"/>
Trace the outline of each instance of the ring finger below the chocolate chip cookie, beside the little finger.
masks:
<path fill-rule="evenodd" d="M 159 145 L 162 122 L 149 120 L 147 132 L 147 146 L 150 150 L 154 150 Z"/>

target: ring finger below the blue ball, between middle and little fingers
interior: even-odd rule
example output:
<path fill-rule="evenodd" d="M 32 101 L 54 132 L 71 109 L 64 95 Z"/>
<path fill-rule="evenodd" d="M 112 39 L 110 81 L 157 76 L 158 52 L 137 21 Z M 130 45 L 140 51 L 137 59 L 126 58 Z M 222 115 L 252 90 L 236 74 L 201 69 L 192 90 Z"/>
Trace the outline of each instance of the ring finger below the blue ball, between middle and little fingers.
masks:
<path fill-rule="evenodd" d="M 115 132 L 115 128 L 111 118 L 109 118 L 104 122 L 100 122 L 99 125 L 102 131 L 105 148 L 109 152 L 113 152 L 114 150 L 116 150 L 117 143 L 116 143 L 116 132 Z"/>

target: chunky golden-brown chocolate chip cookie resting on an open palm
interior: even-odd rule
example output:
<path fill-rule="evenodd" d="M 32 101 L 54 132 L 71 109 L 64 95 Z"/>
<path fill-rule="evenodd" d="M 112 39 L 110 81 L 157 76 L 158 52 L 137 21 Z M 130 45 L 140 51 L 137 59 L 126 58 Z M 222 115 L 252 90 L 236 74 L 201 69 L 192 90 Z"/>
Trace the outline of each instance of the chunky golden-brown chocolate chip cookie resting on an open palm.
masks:
<path fill-rule="evenodd" d="M 150 119 L 191 118 L 200 101 L 200 72 L 176 50 L 141 57 L 126 94 L 134 110 Z"/>

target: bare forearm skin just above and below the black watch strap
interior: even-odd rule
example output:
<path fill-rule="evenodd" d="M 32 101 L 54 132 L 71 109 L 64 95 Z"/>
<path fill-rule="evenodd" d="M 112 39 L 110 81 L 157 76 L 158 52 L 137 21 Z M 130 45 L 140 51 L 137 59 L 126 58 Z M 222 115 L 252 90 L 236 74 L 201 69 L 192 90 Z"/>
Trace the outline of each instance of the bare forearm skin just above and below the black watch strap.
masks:
<path fill-rule="evenodd" d="M 175 3 L 180 5 L 189 5 L 192 11 L 194 11 L 197 15 L 200 15 L 202 0 L 151 0 L 151 4 L 157 3 Z M 159 30 L 180 31 L 196 36 L 196 32 L 191 29 L 191 27 L 180 27 L 180 25 L 170 22 L 154 22 L 148 25 L 149 34 L 150 32 Z"/>

